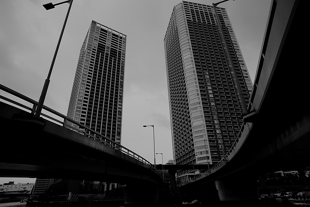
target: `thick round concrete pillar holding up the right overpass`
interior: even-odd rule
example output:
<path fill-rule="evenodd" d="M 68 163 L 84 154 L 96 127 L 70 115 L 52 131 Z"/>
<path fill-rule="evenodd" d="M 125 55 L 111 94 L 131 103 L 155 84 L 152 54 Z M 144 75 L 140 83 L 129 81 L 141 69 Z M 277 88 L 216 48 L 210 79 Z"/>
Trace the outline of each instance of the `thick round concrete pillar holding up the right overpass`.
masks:
<path fill-rule="evenodd" d="M 259 200 L 257 181 L 253 178 L 216 180 L 219 200 Z"/>

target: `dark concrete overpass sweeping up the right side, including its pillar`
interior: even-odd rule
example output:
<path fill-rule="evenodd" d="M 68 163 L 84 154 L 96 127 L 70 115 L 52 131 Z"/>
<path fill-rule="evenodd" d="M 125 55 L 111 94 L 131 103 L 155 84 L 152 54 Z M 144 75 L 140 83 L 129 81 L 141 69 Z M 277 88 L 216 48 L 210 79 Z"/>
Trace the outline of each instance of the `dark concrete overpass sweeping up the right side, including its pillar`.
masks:
<path fill-rule="evenodd" d="M 243 127 L 223 160 L 180 191 L 258 199 L 257 175 L 310 165 L 308 42 L 304 1 L 273 0 Z M 207 189 L 209 188 L 209 190 Z M 200 190 L 197 190 L 200 189 Z M 213 191 L 213 192 L 211 192 Z"/>

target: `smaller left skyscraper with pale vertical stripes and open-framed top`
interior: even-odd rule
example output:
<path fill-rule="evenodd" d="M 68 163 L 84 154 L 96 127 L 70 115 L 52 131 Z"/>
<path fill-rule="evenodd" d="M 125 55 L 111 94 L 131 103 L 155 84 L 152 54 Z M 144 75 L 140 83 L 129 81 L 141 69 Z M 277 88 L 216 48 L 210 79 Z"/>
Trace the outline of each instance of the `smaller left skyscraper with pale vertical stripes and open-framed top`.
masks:
<path fill-rule="evenodd" d="M 125 51 L 126 35 L 91 22 L 78 59 L 67 114 L 118 143 Z"/>

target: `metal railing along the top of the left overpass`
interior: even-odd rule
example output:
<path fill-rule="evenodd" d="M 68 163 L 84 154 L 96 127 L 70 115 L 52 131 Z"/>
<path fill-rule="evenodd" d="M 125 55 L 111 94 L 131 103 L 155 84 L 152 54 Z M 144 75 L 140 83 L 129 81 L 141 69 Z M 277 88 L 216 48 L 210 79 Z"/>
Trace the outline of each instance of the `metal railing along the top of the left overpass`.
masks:
<path fill-rule="evenodd" d="M 2 91 L 5 91 L 5 92 L 15 96 L 15 97 L 18 97 L 18 98 L 20 98 L 20 99 L 22 99 L 24 101 L 27 101 L 27 102 L 31 103 L 33 105 L 33 107 L 31 108 L 29 106 L 25 106 L 25 105 L 23 105 L 23 104 L 21 104 L 21 103 L 19 103 L 17 101 L 11 100 L 11 99 L 9 99 L 7 97 L 4 97 L 2 95 L 0 95 L 0 99 L 8 101 L 8 102 L 10 102 L 12 104 L 15 104 L 16 106 L 20 106 L 20 107 L 22 107 L 24 109 L 27 109 L 27 110 L 31 111 L 31 114 L 34 115 L 35 110 L 36 110 L 36 108 L 38 106 L 38 102 L 37 101 L 35 101 L 35 100 L 33 100 L 33 99 L 29 98 L 29 97 L 26 97 L 23 94 L 12 90 L 11 88 L 7 88 L 6 86 L 4 86 L 2 84 L 0 84 L 0 89 Z M 63 115 L 63 114 L 61 114 L 61 113 L 59 113 L 59 112 L 49 108 L 49 107 L 47 107 L 47 106 L 43 105 L 43 109 L 48 111 L 48 112 L 50 112 L 50 113 L 52 113 L 52 114 L 54 114 L 54 115 L 56 115 L 56 116 L 58 116 L 58 117 L 60 117 L 60 118 L 62 118 L 63 121 L 55 119 L 55 118 L 53 118 L 53 117 L 51 117 L 49 115 L 46 115 L 44 113 L 41 113 L 42 116 L 44 116 L 44 117 L 46 117 L 48 119 L 51 119 L 51 120 L 53 120 L 53 121 L 55 121 L 57 123 L 62 124 L 63 127 L 69 128 L 69 129 L 71 129 L 71 130 L 73 130 L 73 131 L 75 131 L 77 133 L 83 134 L 85 137 L 93 138 L 94 140 L 96 140 L 98 142 L 101 142 L 101 143 L 103 143 L 105 145 L 108 145 L 108 146 L 118 150 L 118 151 L 121 151 L 122 153 L 124 153 L 124 154 L 126 154 L 126 155 L 128 155 L 130 157 L 133 157 L 134 159 L 139 160 L 139 161 L 143 162 L 144 164 L 147 164 L 147 165 L 151 166 L 153 169 L 155 169 L 161 175 L 161 173 L 158 171 L 158 169 L 153 164 L 151 164 L 148 160 L 144 159 L 142 156 L 140 156 L 140 155 L 136 154 L 135 152 L 131 151 L 130 149 L 122 146 L 121 144 L 111 140 L 110 138 L 108 138 L 108 137 L 106 137 L 106 136 L 96 132 L 95 130 L 93 130 L 91 128 L 88 128 L 87 126 L 85 126 L 83 124 L 78 123 L 77 121 L 75 121 L 75 120 L 73 120 L 73 119 L 71 119 L 71 118 L 69 118 L 69 117 L 67 117 L 67 116 L 65 116 L 65 115 Z"/>

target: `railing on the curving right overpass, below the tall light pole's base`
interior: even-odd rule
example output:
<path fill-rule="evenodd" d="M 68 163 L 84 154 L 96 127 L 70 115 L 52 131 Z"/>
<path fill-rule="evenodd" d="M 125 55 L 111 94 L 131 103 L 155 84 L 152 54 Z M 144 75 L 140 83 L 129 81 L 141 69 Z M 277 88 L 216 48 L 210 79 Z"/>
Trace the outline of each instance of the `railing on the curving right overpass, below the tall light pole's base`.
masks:
<path fill-rule="evenodd" d="M 196 180 L 197 178 L 203 177 L 203 176 L 208 176 L 209 174 L 211 174 L 214 170 L 216 170 L 221 164 L 226 163 L 227 162 L 227 158 L 228 156 L 232 153 L 232 151 L 235 151 L 235 147 L 237 146 L 237 143 L 240 140 L 240 137 L 242 135 L 242 132 L 245 128 L 246 122 L 242 123 L 242 127 L 239 130 L 238 136 L 236 137 L 236 141 L 233 143 L 232 147 L 229 149 L 229 151 L 226 153 L 226 155 L 217 163 L 215 164 L 212 168 L 208 169 L 206 172 L 201 173 L 200 175 L 195 176 L 194 178 L 188 180 L 188 181 L 184 181 L 178 184 L 178 186 L 181 186 L 182 184 L 185 184 L 187 182 Z"/>

